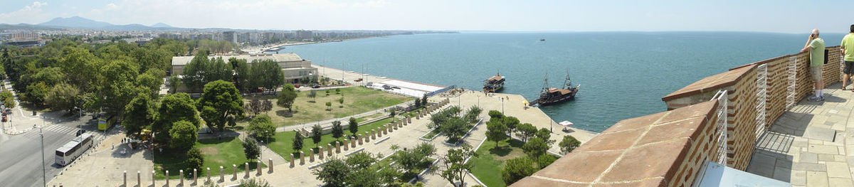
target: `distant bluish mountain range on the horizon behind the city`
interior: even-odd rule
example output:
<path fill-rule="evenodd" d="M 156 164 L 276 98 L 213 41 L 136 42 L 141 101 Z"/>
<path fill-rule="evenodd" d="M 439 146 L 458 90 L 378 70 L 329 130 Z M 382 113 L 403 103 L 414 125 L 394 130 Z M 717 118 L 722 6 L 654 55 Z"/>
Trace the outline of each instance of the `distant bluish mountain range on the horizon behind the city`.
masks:
<path fill-rule="evenodd" d="M 114 25 L 104 21 L 97 20 L 89 20 L 79 16 L 73 16 L 69 18 L 54 18 L 53 20 L 48 20 L 44 23 L 39 23 L 36 25 L 32 24 L 0 24 L 0 29 L 61 29 L 61 28 L 78 28 L 78 29 L 97 29 L 97 30 L 116 30 L 116 31 L 132 31 L 132 30 L 180 30 L 184 28 L 178 28 L 174 26 L 169 26 L 165 23 L 155 23 L 151 26 L 144 26 L 140 24 L 128 24 L 128 25 Z"/>

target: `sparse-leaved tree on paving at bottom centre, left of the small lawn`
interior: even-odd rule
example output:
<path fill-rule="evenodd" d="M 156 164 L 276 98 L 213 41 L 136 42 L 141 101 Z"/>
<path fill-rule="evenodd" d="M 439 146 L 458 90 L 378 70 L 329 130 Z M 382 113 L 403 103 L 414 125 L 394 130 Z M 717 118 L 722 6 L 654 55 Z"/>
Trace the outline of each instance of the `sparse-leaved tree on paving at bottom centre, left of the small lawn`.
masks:
<path fill-rule="evenodd" d="M 473 161 L 465 162 L 465 159 L 474 155 L 477 155 L 477 153 L 472 150 L 469 144 L 464 144 L 461 149 L 448 149 L 447 154 L 440 158 L 442 166 L 439 168 L 439 175 L 445 178 L 447 182 L 453 184 L 453 186 L 462 187 L 466 171 L 474 167 Z M 457 182 L 459 182 L 459 185 Z"/>

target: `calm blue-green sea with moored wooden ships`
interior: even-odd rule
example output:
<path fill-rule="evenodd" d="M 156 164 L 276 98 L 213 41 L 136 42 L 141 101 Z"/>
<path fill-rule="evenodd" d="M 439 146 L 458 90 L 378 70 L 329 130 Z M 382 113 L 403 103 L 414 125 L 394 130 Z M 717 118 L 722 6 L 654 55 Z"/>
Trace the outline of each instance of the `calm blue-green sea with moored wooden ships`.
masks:
<path fill-rule="evenodd" d="M 314 64 L 480 91 L 506 76 L 502 93 L 538 97 L 544 80 L 569 74 L 575 100 L 541 107 L 555 121 L 604 131 L 619 120 L 663 112 L 661 97 L 729 68 L 798 53 L 807 32 L 460 32 L 396 35 L 287 46 Z M 844 33 L 822 33 L 827 46 Z"/>

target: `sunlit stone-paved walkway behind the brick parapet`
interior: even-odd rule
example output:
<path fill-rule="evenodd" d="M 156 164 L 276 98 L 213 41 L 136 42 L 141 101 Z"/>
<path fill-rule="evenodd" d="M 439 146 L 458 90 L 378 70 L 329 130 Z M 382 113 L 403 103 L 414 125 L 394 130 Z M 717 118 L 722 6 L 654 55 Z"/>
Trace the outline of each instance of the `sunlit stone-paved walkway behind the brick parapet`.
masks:
<path fill-rule="evenodd" d="M 782 114 L 757 141 L 746 171 L 793 186 L 854 186 L 854 92 L 838 88 L 828 86 L 824 102 L 804 99 Z"/>

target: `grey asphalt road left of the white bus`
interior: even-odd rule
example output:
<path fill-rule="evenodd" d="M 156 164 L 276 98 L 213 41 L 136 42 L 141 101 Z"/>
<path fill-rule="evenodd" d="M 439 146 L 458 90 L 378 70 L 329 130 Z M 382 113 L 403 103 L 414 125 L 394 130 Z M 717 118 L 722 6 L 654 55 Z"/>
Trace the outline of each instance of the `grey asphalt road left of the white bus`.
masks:
<path fill-rule="evenodd" d="M 44 127 L 44 164 L 47 181 L 59 174 L 62 167 L 55 162 L 56 149 L 74 137 L 77 130 L 73 124 Z M 90 126 L 91 127 L 91 126 Z M 43 186 L 42 148 L 39 132 L 0 135 L 0 187 Z"/>

